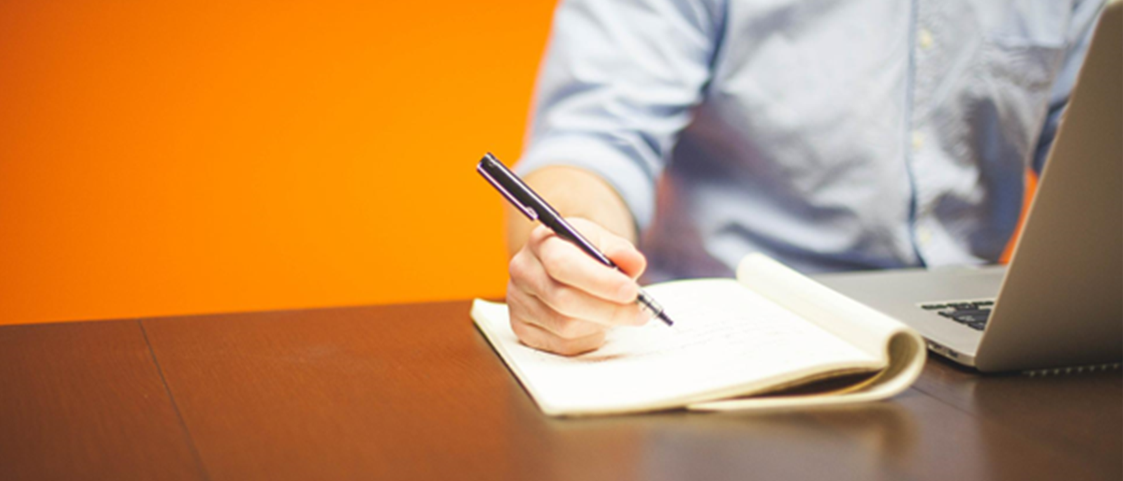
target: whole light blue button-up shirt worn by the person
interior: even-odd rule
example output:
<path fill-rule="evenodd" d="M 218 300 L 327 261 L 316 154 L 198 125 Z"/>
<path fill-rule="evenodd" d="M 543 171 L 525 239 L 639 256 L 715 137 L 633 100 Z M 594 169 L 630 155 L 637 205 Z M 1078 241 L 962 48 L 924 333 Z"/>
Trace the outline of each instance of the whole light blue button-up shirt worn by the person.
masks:
<path fill-rule="evenodd" d="M 604 177 L 655 278 L 994 262 L 1102 7 L 564 1 L 518 169 Z"/>

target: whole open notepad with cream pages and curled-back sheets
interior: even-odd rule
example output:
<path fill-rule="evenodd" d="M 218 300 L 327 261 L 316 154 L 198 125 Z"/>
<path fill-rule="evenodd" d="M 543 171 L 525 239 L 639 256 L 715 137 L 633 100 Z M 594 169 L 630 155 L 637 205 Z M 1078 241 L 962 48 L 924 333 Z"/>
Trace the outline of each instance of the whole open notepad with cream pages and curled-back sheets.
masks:
<path fill-rule="evenodd" d="M 618 327 L 573 358 L 521 344 L 503 304 L 476 299 L 472 317 L 550 416 L 858 403 L 920 374 L 924 342 L 904 324 L 763 255 L 737 277 L 648 286 L 673 327 Z"/>

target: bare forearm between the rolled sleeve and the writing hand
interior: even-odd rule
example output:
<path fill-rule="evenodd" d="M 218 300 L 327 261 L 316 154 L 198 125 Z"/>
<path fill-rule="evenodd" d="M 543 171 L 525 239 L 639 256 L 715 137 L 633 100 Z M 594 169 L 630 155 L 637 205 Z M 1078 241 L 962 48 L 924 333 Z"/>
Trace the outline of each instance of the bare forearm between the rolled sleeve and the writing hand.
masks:
<path fill-rule="evenodd" d="M 530 173 L 523 181 L 563 216 L 587 219 L 636 243 L 636 221 L 631 212 L 615 189 L 597 175 L 574 167 L 549 166 Z M 514 207 L 506 206 L 510 256 L 522 248 L 535 225 Z"/>

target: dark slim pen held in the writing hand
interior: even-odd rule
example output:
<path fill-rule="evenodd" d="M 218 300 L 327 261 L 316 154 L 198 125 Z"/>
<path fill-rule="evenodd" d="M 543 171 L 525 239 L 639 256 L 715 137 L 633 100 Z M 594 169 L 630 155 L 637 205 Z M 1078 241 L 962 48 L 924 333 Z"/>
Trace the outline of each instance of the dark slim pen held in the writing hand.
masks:
<path fill-rule="evenodd" d="M 613 269 L 620 270 L 620 268 L 609 259 L 596 247 L 593 246 L 581 232 L 577 232 L 573 225 L 569 225 L 565 219 L 558 214 L 550 204 L 547 204 L 542 197 L 538 196 L 535 191 L 530 188 L 527 184 L 514 175 L 513 172 L 506 168 L 503 163 L 499 161 L 495 156 L 491 154 L 484 155 L 484 158 L 480 160 L 476 165 L 476 172 L 484 176 L 489 183 L 500 194 L 503 194 L 506 200 L 514 205 L 520 212 L 523 213 L 531 221 L 541 221 L 546 226 L 550 228 L 559 238 L 565 239 L 578 248 L 585 251 L 590 257 L 596 259 L 599 262 L 611 267 Z M 655 302 L 654 298 L 642 288 L 639 289 L 639 296 L 636 297 L 636 302 L 641 306 L 647 307 L 655 317 L 663 321 L 665 324 L 674 325 L 675 322 L 667 316 L 667 313 L 663 309 L 659 303 Z"/>

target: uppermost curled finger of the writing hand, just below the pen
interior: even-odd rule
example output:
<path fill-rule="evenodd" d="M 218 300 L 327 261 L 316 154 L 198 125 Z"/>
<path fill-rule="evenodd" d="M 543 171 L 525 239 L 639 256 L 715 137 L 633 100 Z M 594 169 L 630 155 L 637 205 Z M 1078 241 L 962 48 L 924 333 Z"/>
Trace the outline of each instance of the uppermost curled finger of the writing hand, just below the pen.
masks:
<path fill-rule="evenodd" d="M 560 284 L 618 304 L 636 300 L 639 287 L 628 275 L 597 262 L 577 246 L 551 235 L 529 244 L 546 274 Z"/>

